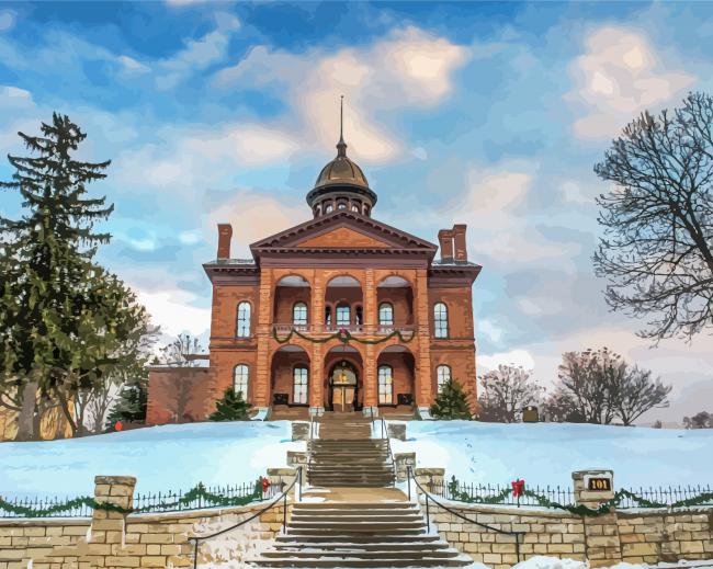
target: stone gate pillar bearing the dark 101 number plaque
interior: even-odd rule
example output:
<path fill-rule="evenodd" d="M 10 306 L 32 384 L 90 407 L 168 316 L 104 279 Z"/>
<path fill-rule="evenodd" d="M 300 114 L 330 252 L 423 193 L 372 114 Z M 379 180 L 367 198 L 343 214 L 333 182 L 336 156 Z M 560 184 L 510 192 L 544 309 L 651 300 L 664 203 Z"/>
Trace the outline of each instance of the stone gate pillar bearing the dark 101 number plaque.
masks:
<path fill-rule="evenodd" d="M 606 469 L 571 473 L 575 502 L 592 510 L 614 497 L 614 473 Z M 607 482 L 608 480 L 608 482 Z M 622 560 L 616 509 L 584 516 L 586 556 L 591 567 L 608 567 Z"/>

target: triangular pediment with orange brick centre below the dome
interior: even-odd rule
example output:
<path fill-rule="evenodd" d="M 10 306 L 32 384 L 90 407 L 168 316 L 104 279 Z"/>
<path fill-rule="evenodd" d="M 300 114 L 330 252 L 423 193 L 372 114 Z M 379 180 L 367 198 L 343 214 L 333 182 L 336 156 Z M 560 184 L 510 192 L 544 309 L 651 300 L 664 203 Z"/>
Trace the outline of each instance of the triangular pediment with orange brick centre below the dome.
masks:
<path fill-rule="evenodd" d="M 437 246 L 406 231 L 352 212 L 336 212 L 291 227 L 250 246 L 265 249 L 312 250 L 421 250 L 434 252 Z"/>

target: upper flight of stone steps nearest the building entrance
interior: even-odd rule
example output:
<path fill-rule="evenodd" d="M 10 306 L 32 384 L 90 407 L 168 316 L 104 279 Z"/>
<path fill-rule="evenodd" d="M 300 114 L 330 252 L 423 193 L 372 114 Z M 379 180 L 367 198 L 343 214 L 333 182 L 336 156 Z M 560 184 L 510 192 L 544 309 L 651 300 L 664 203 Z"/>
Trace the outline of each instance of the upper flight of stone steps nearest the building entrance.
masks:
<path fill-rule="evenodd" d="M 312 486 L 383 488 L 394 483 L 387 442 L 371 439 L 371 421 L 325 416 L 319 439 L 309 442 L 307 481 Z"/>

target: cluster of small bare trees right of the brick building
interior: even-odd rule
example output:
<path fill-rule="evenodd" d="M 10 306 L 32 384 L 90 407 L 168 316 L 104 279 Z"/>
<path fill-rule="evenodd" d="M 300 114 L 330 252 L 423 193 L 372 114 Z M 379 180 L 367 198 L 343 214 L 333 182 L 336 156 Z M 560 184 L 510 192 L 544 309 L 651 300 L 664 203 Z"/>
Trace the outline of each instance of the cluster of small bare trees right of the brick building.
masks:
<path fill-rule="evenodd" d="M 632 366 L 608 348 L 567 352 L 548 395 L 521 366 L 500 365 L 480 377 L 478 418 L 518 421 L 522 409 L 537 406 L 550 421 L 630 425 L 646 411 L 668 406 L 670 386 L 650 371 Z"/>

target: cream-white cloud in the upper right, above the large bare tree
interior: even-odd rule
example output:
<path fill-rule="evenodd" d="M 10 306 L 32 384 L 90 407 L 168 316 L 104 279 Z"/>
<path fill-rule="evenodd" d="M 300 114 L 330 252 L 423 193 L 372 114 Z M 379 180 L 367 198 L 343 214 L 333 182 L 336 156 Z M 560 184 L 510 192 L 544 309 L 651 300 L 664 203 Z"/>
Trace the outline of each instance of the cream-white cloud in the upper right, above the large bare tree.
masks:
<path fill-rule="evenodd" d="M 592 32 L 570 66 L 575 87 L 566 98 L 586 109 L 574 124 L 580 138 L 611 138 L 637 113 L 669 103 L 695 77 L 671 69 L 648 39 L 633 30 Z"/>

